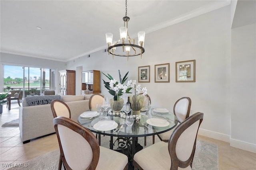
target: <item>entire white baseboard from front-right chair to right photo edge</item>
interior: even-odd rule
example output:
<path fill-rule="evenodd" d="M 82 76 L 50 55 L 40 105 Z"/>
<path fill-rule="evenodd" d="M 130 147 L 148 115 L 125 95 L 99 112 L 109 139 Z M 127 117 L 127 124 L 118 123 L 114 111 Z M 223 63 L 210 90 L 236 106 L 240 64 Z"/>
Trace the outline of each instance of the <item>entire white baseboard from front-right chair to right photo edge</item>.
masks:
<path fill-rule="evenodd" d="M 237 139 L 232 139 L 232 138 L 230 138 L 230 135 L 226 135 L 223 133 L 217 133 L 214 131 L 209 131 L 209 130 L 200 129 L 200 128 L 198 130 L 198 135 L 202 135 L 202 136 L 210 137 L 210 138 L 217 139 L 220 141 L 228 142 L 228 143 L 230 143 L 231 147 L 235 147 L 238 149 L 243 149 L 243 150 L 247 150 L 249 152 L 256 153 L 256 144 L 248 143 L 245 141 L 239 141 Z"/>

